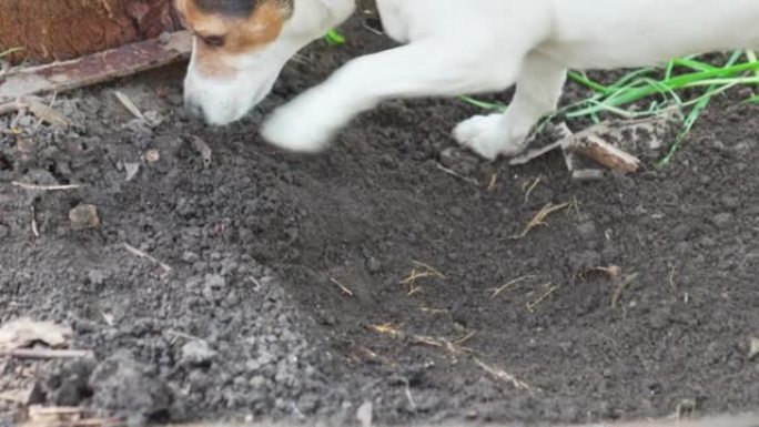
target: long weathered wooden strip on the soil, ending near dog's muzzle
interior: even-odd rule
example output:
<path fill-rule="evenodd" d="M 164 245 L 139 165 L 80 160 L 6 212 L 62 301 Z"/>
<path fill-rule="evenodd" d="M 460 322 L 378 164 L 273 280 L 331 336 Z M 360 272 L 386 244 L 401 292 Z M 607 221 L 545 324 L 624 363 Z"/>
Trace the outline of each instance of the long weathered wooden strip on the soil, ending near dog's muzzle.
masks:
<path fill-rule="evenodd" d="M 188 58 L 191 50 L 190 34 L 179 31 L 72 61 L 22 69 L 0 83 L 0 105 L 21 96 L 69 91 L 168 65 Z"/>

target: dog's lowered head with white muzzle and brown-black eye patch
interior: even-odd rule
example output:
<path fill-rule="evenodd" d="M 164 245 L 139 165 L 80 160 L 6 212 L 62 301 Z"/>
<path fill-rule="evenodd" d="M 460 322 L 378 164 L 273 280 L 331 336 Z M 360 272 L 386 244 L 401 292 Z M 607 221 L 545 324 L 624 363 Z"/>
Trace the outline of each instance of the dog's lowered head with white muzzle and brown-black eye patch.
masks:
<path fill-rule="evenodd" d="M 194 34 L 184 103 L 211 124 L 245 115 L 290 58 L 353 10 L 353 0 L 175 1 Z"/>

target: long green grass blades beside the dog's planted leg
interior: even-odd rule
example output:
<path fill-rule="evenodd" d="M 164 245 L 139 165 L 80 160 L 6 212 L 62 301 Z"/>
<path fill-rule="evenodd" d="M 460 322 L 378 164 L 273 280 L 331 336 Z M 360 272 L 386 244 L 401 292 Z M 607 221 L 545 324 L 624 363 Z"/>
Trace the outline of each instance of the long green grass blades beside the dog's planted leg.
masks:
<path fill-rule="evenodd" d="M 752 51 L 736 51 L 718 65 L 699 58 L 679 58 L 665 67 L 631 70 L 608 84 L 576 71 L 570 71 L 568 78 L 588 89 L 590 94 L 561 106 L 547 120 L 563 116 L 599 122 L 604 114 L 640 119 L 679 111 L 684 116 L 681 129 L 667 154 L 658 162 L 659 166 L 666 166 L 672 162 L 682 141 L 715 96 L 738 85 L 759 84 L 759 61 Z M 507 106 L 469 96 L 463 99 L 489 111 L 504 111 Z M 743 102 L 759 103 L 759 95 Z"/>

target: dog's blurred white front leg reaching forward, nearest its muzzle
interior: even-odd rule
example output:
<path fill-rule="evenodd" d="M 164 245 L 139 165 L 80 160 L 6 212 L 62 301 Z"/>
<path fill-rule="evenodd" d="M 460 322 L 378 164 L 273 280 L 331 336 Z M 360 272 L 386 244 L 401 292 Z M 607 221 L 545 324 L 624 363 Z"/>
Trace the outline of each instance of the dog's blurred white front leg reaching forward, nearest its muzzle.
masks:
<path fill-rule="evenodd" d="M 315 152 L 354 116 L 384 100 L 496 91 L 514 83 L 518 63 L 485 62 L 503 51 L 500 45 L 464 42 L 462 47 L 461 39 L 428 39 L 353 60 L 275 111 L 262 134 L 280 148 Z"/>

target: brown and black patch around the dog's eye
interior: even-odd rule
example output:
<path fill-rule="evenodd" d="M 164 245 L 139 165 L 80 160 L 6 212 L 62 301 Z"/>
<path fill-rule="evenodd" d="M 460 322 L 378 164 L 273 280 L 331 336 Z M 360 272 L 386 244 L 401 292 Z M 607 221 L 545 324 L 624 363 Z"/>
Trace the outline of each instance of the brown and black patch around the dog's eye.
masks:
<path fill-rule="evenodd" d="M 293 0 L 176 0 L 185 27 L 195 35 L 199 71 L 219 78 L 235 71 L 231 57 L 276 40 L 293 7 Z"/>

